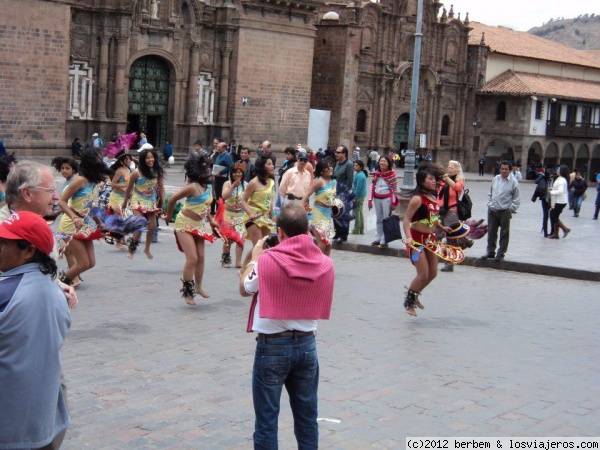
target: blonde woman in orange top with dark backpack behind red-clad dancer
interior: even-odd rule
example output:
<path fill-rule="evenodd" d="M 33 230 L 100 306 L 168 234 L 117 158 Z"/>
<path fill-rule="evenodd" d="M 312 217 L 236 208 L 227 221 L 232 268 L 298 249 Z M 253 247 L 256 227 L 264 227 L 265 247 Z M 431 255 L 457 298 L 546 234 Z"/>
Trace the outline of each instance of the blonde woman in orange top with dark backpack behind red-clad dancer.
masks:
<path fill-rule="evenodd" d="M 465 187 L 465 177 L 462 173 L 462 166 L 458 161 L 449 161 L 446 173 L 442 175 L 439 182 L 440 190 L 438 192 L 438 204 L 440 205 L 440 217 L 443 225 L 451 225 L 458 222 L 458 210 L 456 204 L 462 195 Z M 444 237 L 439 233 L 438 240 Z M 454 272 L 454 264 L 446 261 L 442 272 Z"/>

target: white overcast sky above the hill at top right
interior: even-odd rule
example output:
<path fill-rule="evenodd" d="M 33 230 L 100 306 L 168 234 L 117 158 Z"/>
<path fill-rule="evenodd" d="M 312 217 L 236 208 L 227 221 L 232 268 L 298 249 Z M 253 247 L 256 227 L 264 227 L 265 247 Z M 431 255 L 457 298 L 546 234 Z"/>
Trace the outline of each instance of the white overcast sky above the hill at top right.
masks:
<path fill-rule="evenodd" d="M 550 19 L 573 19 L 581 14 L 600 15 L 600 0 L 440 0 L 461 20 L 469 13 L 469 20 L 486 25 L 503 25 L 517 31 L 528 31 Z M 441 11 L 441 10 L 440 10 Z"/>

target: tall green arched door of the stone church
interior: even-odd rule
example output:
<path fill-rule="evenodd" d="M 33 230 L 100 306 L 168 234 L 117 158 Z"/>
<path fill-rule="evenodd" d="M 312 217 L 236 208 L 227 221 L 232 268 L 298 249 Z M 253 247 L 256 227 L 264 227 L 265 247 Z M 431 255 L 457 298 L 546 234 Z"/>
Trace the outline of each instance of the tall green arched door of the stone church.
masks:
<path fill-rule="evenodd" d="M 129 70 L 127 132 L 143 132 L 161 147 L 168 139 L 171 71 L 159 56 L 136 59 Z"/>

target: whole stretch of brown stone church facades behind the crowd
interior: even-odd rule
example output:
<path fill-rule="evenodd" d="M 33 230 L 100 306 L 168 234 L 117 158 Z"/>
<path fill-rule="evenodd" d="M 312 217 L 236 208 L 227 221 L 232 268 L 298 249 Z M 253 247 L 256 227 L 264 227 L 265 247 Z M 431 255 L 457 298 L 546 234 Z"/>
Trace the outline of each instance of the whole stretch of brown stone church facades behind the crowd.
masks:
<path fill-rule="evenodd" d="M 306 142 L 311 108 L 331 112 L 331 146 L 407 146 L 417 0 L 0 6 L 0 139 L 21 154 L 117 131 L 180 151 L 215 137 L 279 150 Z M 469 24 L 441 8 L 424 0 L 417 144 L 464 160 Z"/>

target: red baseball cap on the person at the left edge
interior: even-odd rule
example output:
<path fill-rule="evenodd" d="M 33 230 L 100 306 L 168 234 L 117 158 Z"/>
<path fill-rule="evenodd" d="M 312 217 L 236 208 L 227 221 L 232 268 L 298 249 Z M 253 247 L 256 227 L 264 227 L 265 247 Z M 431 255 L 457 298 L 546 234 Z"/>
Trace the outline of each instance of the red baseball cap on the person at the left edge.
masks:
<path fill-rule="evenodd" d="M 42 216 L 29 211 L 15 212 L 8 216 L 0 224 L 0 238 L 24 239 L 46 255 L 50 255 L 54 248 L 54 236 L 46 221 Z"/>

